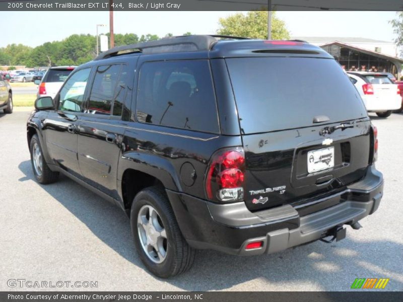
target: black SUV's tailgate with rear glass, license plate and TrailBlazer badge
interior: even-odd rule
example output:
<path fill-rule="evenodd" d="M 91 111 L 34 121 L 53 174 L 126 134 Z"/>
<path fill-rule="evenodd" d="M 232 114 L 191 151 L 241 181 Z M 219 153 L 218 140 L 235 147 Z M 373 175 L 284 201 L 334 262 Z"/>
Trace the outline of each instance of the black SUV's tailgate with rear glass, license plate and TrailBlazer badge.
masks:
<path fill-rule="evenodd" d="M 370 121 L 337 62 L 292 55 L 226 62 L 245 150 L 249 209 L 317 199 L 365 175 Z M 341 124 L 348 128 L 326 133 Z"/>

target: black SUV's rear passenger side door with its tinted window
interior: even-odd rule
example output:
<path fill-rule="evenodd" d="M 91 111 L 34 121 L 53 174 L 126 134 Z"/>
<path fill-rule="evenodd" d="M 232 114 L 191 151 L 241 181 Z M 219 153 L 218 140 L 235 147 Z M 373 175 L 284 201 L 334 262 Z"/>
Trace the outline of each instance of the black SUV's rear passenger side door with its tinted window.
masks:
<path fill-rule="evenodd" d="M 125 108 L 132 95 L 137 57 L 130 60 L 96 68 L 79 129 L 78 156 L 83 176 L 89 184 L 113 198 L 118 198 L 117 164 L 128 121 Z"/>

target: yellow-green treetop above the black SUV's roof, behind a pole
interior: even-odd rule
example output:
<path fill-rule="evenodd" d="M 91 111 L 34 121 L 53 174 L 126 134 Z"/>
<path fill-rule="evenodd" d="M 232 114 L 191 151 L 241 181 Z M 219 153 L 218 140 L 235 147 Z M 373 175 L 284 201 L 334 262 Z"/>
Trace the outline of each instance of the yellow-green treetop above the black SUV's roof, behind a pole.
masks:
<path fill-rule="evenodd" d="M 247 37 L 254 39 L 267 38 L 267 12 L 251 11 L 246 15 L 237 13 L 227 18 L 220 18 L 220 28 L 217 33 L 224 36 Z M 275 12 L 272 14 L 272 39 L 283 40 L 289 39 L 290 33 L 286 28 L 283 20 L 276 17 Z"/>

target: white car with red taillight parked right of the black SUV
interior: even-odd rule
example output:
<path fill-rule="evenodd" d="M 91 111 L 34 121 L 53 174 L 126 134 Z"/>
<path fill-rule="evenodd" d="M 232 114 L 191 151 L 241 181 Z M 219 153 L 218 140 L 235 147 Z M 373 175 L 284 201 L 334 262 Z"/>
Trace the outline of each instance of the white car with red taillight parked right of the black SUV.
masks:
<path fill-rule="evenodd" d="M 376 112 L 379 117 L 388 117 L 393 110 L 400 108 L 398 85 L 393 84 L 386 74 L 364 71 L 347 71 L 347 74 L 368 112 Z"/>

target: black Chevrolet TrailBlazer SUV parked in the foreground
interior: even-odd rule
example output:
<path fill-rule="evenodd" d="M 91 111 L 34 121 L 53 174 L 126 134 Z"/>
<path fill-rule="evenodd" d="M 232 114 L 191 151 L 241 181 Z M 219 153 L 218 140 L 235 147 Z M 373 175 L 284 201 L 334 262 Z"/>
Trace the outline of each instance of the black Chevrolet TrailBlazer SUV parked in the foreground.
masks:
<path fill-rule="evenodd" d="M 195 249 L 257 255 L 343 239 L 382 197 L 377 131 L 358 92 L 303 41 L 117 47 L 35 107 L 38 182 L 63 173 L 121 207 L 161 277 L 187 270 Z"/>

